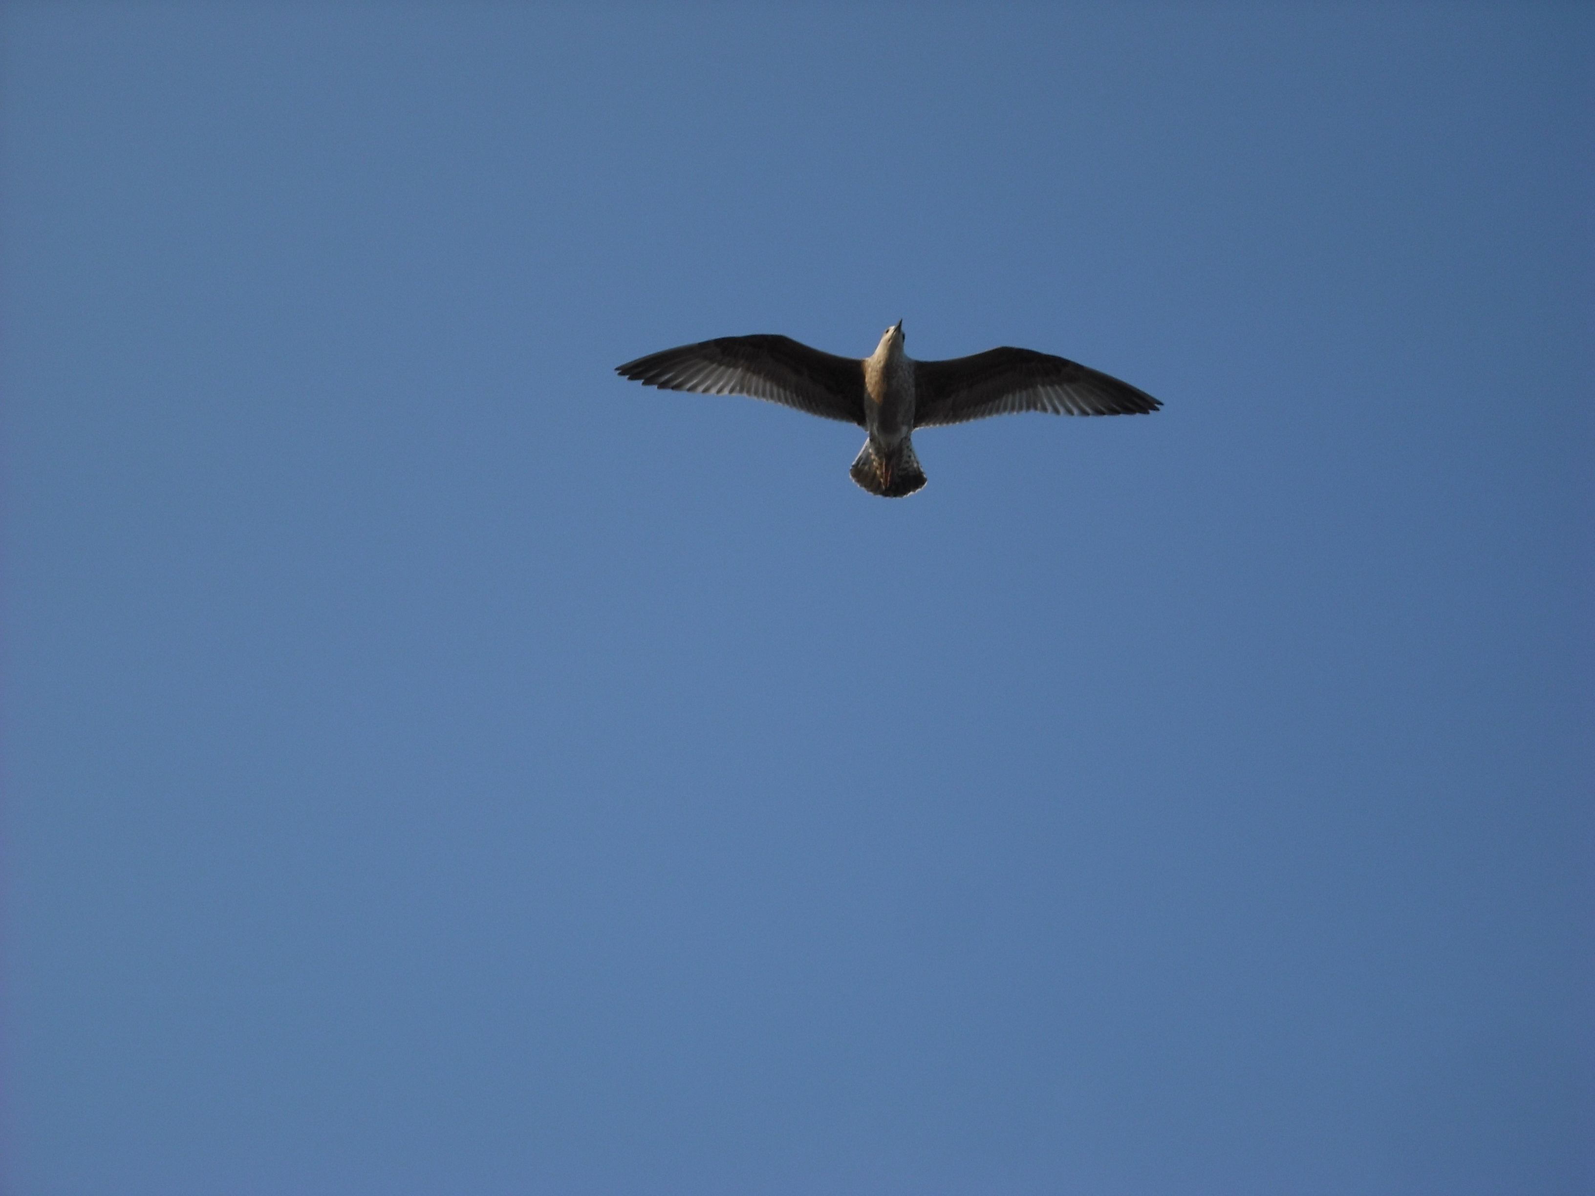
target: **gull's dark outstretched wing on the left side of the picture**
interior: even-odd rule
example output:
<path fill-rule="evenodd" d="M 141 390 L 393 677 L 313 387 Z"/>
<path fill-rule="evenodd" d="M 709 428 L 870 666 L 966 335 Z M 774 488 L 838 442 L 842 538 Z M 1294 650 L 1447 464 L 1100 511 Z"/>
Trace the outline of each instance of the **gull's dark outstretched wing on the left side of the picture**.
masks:
<path fill-rule="evenodd" d="M 746 394 L 864 424 L 864 364 L 810 349 L 791 336 L 721 336 L 638 357 L 614 372 L 662 391 Z"/>

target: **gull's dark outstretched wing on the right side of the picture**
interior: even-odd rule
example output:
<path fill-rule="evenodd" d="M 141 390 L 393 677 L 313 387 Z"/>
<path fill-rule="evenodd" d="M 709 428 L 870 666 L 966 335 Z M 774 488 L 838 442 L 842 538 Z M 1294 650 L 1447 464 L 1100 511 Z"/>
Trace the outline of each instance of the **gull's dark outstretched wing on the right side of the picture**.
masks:
<path fill-rule="evenodd" d="M 1030 349 L 914 364 L 914 427 L 960 424 L 1008 411 L 1145 415 L 1163 403 L 1129 383 Z"/>

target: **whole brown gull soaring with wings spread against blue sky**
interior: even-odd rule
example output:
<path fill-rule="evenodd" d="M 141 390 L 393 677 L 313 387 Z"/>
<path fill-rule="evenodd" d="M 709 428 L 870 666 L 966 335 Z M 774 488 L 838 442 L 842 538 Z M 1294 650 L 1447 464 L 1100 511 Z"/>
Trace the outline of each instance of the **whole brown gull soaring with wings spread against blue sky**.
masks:
<path fill-rule="evenodd" d="M 791 336 L 721 336 L 638 357 L 614 372 L 660 391 L 745 394 L 858 424 L 869 437 L 849 472 L 882 498 L 904 498 L 925 485 L 914 456 L 919 427 L 1008 411 L 1148 415 L 1163 407 L 1129 383 L 1034 349 L 916 362 L 903 351 L 906 341 L 903 321 L 863 360 L 820 352 Z"/>

